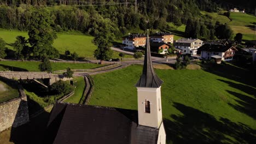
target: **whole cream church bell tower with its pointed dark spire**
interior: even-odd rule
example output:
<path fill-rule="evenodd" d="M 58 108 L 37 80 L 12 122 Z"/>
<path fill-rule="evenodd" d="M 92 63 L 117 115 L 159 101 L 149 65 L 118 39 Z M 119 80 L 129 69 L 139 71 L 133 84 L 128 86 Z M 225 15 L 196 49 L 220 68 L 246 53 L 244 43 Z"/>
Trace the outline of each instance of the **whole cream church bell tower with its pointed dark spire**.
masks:
<path fill-rule="evenodd" d="M 162 123 L 162 80 L 155 74 L 147 33 L 146 51 L 142 75 L 135 85 L 138 94 L 138 124 L 159 128 Z"/>

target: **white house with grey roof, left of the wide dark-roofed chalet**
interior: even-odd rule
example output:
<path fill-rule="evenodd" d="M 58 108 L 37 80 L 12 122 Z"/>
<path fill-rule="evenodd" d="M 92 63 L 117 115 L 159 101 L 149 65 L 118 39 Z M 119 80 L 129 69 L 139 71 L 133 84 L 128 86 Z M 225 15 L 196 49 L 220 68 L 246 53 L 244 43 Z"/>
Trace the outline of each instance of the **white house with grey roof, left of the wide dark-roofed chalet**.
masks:
<path fill-rule="evenodd" d="M 191 55 L 196 55 L 197 49 L 202 46 L 203 41 L 200 39 L 187 39 L 182 38 L 174 40 L 174 47 L 181 49 L 182 53 L 190 53 Z"/>

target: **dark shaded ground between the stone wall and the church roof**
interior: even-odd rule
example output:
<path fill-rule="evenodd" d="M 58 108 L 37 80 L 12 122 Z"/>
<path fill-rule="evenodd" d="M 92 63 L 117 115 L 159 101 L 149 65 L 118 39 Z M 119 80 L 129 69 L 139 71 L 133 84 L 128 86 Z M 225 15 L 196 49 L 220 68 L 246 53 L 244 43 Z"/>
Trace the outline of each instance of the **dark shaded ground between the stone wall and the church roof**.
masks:
<path fill-rule="evenodd" d="M 28 100 L 28 105 L 32 101 Z M 36 102 L 33 103 L 34 107 L 40 107 Z M 31 111 L 34 107 L 29 107 L 28 111 Z M 43 109 L 43 107 L 40 107 Z M 15 144 L 19 143 L 42 143 L 44 134 L 48 123 L 49 113 L 43 111 L 40 115 L 34 118 L 30 118 L 30 122 L 20 125 L 16 128 L 11 128 L 10 142 Z"/>

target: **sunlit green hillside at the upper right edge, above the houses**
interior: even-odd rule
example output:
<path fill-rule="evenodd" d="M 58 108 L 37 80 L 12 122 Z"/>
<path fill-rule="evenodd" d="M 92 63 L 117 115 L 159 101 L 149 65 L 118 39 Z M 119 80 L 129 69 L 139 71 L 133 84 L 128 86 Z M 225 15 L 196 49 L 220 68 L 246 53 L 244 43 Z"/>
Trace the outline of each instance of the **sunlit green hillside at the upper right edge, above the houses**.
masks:
<path fill-rule="evenodd" d="M 253 15 L 248 15 L 245 13 L 230 13 L 230 19 L 232 21 L 228 22 L 228 25 L 236 33 L 242 33 L 243 39 L 245 40 L 255 40 L 254 38 L 254 25 L 256 22 L 256 17 Z"/>

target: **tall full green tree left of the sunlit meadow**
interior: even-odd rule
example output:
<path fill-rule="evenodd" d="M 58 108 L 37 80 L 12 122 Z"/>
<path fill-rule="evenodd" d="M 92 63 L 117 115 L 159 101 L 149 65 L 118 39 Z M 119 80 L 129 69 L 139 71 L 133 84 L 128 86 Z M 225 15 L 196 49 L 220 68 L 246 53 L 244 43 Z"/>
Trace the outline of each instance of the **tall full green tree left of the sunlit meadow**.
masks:
<path fill-rule="evenodd" d="M 44 57 L 55 58 L 59 52 L 52 46 L 54 39 L 57 38 L 56 32 L 51 29 L 50 13 L 48 9 L 37 8 L 31 16 L 30 30 L 28 39 L 32 46 L 33 56 L 42 59 Z"/>

